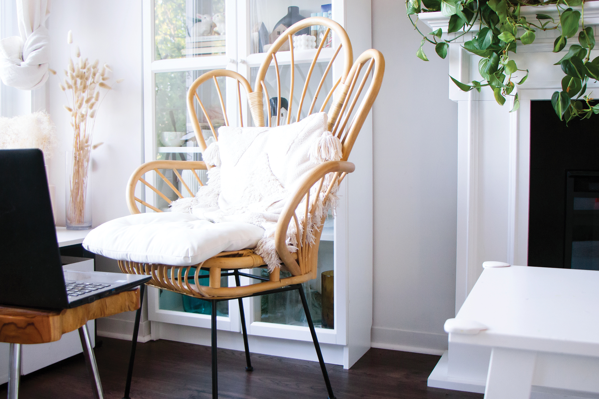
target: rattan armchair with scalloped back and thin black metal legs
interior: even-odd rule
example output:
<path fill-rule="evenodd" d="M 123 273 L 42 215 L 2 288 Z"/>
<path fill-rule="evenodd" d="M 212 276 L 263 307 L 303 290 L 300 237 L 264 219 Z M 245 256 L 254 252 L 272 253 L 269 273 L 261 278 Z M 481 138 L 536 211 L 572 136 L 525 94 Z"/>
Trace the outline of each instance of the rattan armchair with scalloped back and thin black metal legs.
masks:
<path fill-rule="evenodd" d="M 313 75 L 314 66 L 316 65 L 318 57 L 321 53 L 324 41 L 322 44 L 320 44 L 320 47 L 317 48 L 316 56 L 314 56 L 314 59 L 310 64 L 310 69 L 308 71 L 307 77 L 305 78 L 304 89 L 302 90 L 301 97 L 299 98 L 298 109 L 294 110 L 291 109 L 293 103 L 292 99 L 294 98 L 293 87 L 295 78 L 294 45 L 292 42 L 292 35 L 300 31 L 301 29 L 307 28 L 311 25 L 326 26 L 328 28 L 328 30 L 326 31 L 326 35 L 328 35 L 329 31 L 334 31 L 336 35 L 336 41 L 338 41 L 340 44 L 336 48 L 334 56 L 328 63 L 328 66 L 326 67 L 324 74 L 322 75 L 322 77 L 319 77 L 319 86 L 316 90 L 316 94 L 314 95 L 313 99 L 310 100 L 310 104 L 308 107 L 309 99 L 305 99 L 307 87 Z M 273 272 L 270 272 L 269 278 L 240 272 L 241 269 L 265 267 L 264 260 L 262 260 L 262 258 L 259 255 L 255 254 L 252 251 L 252 249 L 221 252 L 220 254 L 202 262 L 201 264 L 187 267 L 168 266 L 166 264 L 140 264 L 131 261 L 119 261 L 119 267 L 124 273 L 151 275 L 152 280 L 150 280 L 147 284 L 151 285 L 152 287 L 161 288 L 162 290 L 174 291 L 176 293 L 181 293 L 187 296 L 211 301 L 213 398 L 217 398 L 218 395 L 216 367 L 217 301 L 238 299 L 241 314 L 241 327 L 243 330 L 243 339 L 246 350 L 246 369 L 252 370 L 252 364 L 250 361 L 249 348 L 247 343 L 247 330 L 244 319 L 243 302 L 241 299 L 243 297 L 259 296 L 289 290 L 299 291 L 308 325 L 310 327 L 310 332 L 314 341 L 314 346 L 316 348 L 317 357 L 320 362 L 320 367 L 322 368 L 326 388 L 328 389 L 328 395 L 329 398 L 334 398 L 331 383 L 329 382 L 328 374 L 326 373 L 325 363 L 323 361 L 322 354 L 320 353 L 320 348 L 316 337 L 316 332 L 314 330 L 314 325 L 311 320 L 309 309 L 307 307 L 305 293 L 301 285 L 301 283 L 303 282 L 316 278 L 319 240 L 325 219 L 323 218 L 322 223 L 320 223 L 320 228 L 315 234 L 316 240 L 314 241 L 314 243 L 307 242 L 306 234 L 297 237 L 298 242 L 301 243 L 297 252 L 289 252 L 285 242 L 286 232 L 288 230 L 289 223 L 298 223 L 296 209 L 298 208 L 298 205 L 303 201 L 304 197 L 306 197 L 305 203 L 310 203 L 310 189 L 313 186 L 316 185 L 317 193 L 325 193 L 326 200 L 326 197 L 329 195 L 329 193 L 335 187 L 335 185 L 338 185 L 347 175 L 347 173 L 353 172 L 354 165 L 350 162 L 347 162 L 347 159 L 349 157 L 350 151 L 352 150 L 353 144 L 356 141 L 362 124 L 364 123 L 364 120 L 367 117 L 368 112 L 370 112 L 374 99 L 376 98 L 379 92 L 383 80 L 383 72 L 385 71 L 385 60 L 383 59 L 382 54 L 377 50 L 367 50 L 364 51 L 364 53 L 362 53 L 355 62 L 353 62 L 352 45 L 349 41 L 349 37 L 347 36 L 347 33 L 344 31 L 344 29 L 341 28 L 340 25 L 338 25 L 338 23 L 322 17 L 304 19 L 287 29 L 279 37 L 279 39 L 277 39 L 276 42 L 274 42 L 274 44 L 271 45 L 271 47 L 268 50 L 268 53 L 266 54 L 265 62 L 262 63 L 261 67 L 259 68 L 255 87 L 253 90 L 252 87 L 250 87 L 250 84 L 247 82 L 247 80 L 237 72 L 228 71 L 225 69 L 217 69 L 214 71 L 210 71 L 197 78 L 189 88 L 189 92 L 187 93 L 187 109 L 189 111 L 190 120 L 193 123 L 193 129 L 195 130 L 195 136 L 198 145 L 205 149 L 206 144 L 204 141 L 204 136 L 202 136 L 201 126 L 199 124 L 198 116 L 196 115 L 195 111 L 196 102 L 197 105 L 199 105 L 199 109 L 201 109 L 201 111 L 203 112 L 204 117 L 208 121 L 214 139 L 218 139 L 218 137 L 217 132 L 214 129 L 213 123 L 211 122 L 211 119 L 208 116 L 208 112 L 199 98 L 197 90 L 198 87 L 200 87 L 202 84 L 216 84 L 216 90 L 219 95 L 220 105 L 222 106 L 225 124 L 229 126 L 231 114 L 228 114 L 226 112 L 225 102 L 223 101 L 223 96 L 220 93 L 219 83 L 217 82 L 217 77 L 225 77 L 227 79 L 233 79 L 234 81 L 236 81 L 237 84 L 238 110 L 240 111 L 239 114 L 235 115 L 235 117 L 237 118 L 237 121 L 239 121 L 241 126 L 243 126 L 244 121 L 244 108 L 242 106 L 244 98 L 241 96 L 241 86 L 243 86 L 243 89 L 246 92 L 246 99 L 249 103 L 249 109 L 253 118 L 254 125 L 266 126 L 267 124 L 268 126 L 270 126 L 270 113 L 268 113 L 267 122 L 265 124 L 264 104 L 268 104 L 269 97 L 264 80 L 268 68 L 271 66 L 271 64 L 274 63 L 274 67 L 276 69 L 277 74 L 277 104 L 279 104 L 279 109 L 277 109 L 277 125 L 282 123 L 282 121 L 280 121 L 280 104 L 282 95 L 279 65 L 277 63 L 276 52 L 277 50 L 279 50 L 280 47 L 282 47 L 283 44 L 285 44 L 286 41 L 289 41 L 289 47 L 291 48 L 291 90 L 289 93 L 290 109 L 288 110 L 289 112 L 288 119 L 286 121 L 287 123 L 290 123 L 292 121 L 291 117 L 292 113 L 294 112 L 297 120 L 300 120 L 302 112 L 304 112 L 304 115 L 309 115 L 312 114 L 314 111 L 318 111 L 318 109 L 315 109 L 315 105 L 317 102 L 317 98 L 320 95 L 320 90 L 323 87 L 323 83 L 325 82 L 325 77 L 331 71 L 331 67 L 335 59 L 337 59 L 338 54 L 340 54 L 340 51 L 343 50 L 342 59 L 337 60 L 337 63 L 342 68 L 340 78 L 336 82 L 334 82 L 332 89 L 326 94 L 325 100 L 323 100 L 323 104 L 320 107 L 320 111 L 325 111 L 326 106 L 329 106 L 328 129 L 332 132 L 333 135 L 336 135 L 338 138 L 340 138 L 341 143 L 343 145 L 343 158 L 340 161 L 324 162 L 319 166 L 314 167 L 314 169 L 311 170 L 311 172 L 307 173 L 307 175 L 304 175 L 301 185 L 298 186 L 298 190 L 286 204 L 282 214 L 279 217 L 277 230 L 275 234 L 276 249 L 280 259 L 282 260 L 282 264 L 280 265 L 280 267 L 276 267 L 275 270 L 273 270 Z M 370 77 L 370 75 L 372 75 L 372 77 Z M 367 84 L 368 89 L 365 91 L 365 93 L 362 93 L 364 87 Z M 264 98 L 266 99 L 266 101 L 264 101 Z M 304 100 L 306 100 L 305 104 Z M 356 105 L 358 105 L 357 108 Z M 235 110 L 235 112 L 237 113 L 237 109 Z M 181 193 L 177 190 L 177 188 L 174 187 L 172 182 L 165 178 L 164 174 L 162 174 L 159 171 L 159 169 L 172 170 L 173 173 L 180 179 L 187 191 L 189 191 L 189 193 L 193 195 L 195 193 L 192 193 L 189 187 L 187 187 L 184 180 L 181 178 L 179 170 L 191 170 L 199 184 L 202 184 L 201 179 L 199 179 L 195 170 L 206 170 L 210 167 L 210 165 L 206 165 L 204 162 L 176 160 L 158 160 L 141 165 L 132 174 L 131 179 L 129 179 L 129 184 L 126 191 L 126 200 L 129 206 L 129 211 L 131 211 L 132 214 L 139 214 L 141 212 L 138 208 L 139 203 L 141 205 L 146 206 L 147 208 L 153 209 L 153 211 L 161 212 L 160 209 L 150 205 L 149 203 L 144 202 L 143 200 L 135 196 L 135 190 L 137 188 L 138 183 L 146 185 L 147 187 L 155 191 L 155 193 L 158 196 L 161 196 L 163 199 L 167 200 L 167 202 L 171 202 L 171 199 L 169 199 L 167 196 L 161 193 L 161 191 L 159 191 L 157 188 L 153 187 L 153 185 L 151 185 L 149 182 L 143 179 L 145 173 L 155 171 L 156 174 L 160 176 L 162 179 L 164 179 L 167 185 L 177 193 L 177 196 L 183 197 Z M 325 181 L 325 175 L 327 173 L 334 173 L 334 175 L 331 180 L 331 184 L 329 184 L 328 187 L 323 187 L 323 182 Z M 316 195 L 316 197 L 313 198 L 318 200 L 319 195 Z M 312 201 L 314 202 L 314 199 Z M 305 220 L 307 219 L 308 218 L 305 218 Z M 298 227 L 297 230 L 299 231 L 301 229 L 299 229 Z M 305 229 L 303 231 L 305 231 Z M 193 275 L 193 273 L 192 275 L 190 275 L 190 269 L 192 267 L 195 267 L 196 269 L 195 275 Z M 208 270 L 209 275 L 199 275 L 199 270 L 201 269 Z M 288 272 L 291 272 L 291 277 L 281 278 L 280 270 L 286 270 Z M 220 279 L 222 276 L 235 276 L 237 287 L 220 287 Z M 251 279 L 258 279 L 261 282 L 257 284 L 240 286 L 240 276 L 246 276 Z M 208 285 L 200 284 L 200 282 L 204 278 L 208 279 Z M 131 374 L 135 353 L 135 342 L 137 341 L 139 319 L 140 312 L 138 312 L 137 318 L 135 320 L 131 363 L 129 365 L 125 398 L 129 398 L 129 388 L 131 386 Z"/>

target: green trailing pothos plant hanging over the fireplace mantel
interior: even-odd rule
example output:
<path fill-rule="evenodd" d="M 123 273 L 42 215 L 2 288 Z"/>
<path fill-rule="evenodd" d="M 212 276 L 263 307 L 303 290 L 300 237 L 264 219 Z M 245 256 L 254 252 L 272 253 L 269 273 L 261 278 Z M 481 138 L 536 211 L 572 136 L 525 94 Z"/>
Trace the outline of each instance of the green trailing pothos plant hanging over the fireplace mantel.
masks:
<path fill-rule="evenodd" d="M 528 4 L 530 2 L 530 4 Z M 519 107 L 518 93 L 512 94 L 515 84 L 522 84 L 528 77 L 526 71 L 518 69 L 516 62 L 510 59 L 510 51 L 516 52 L 516 46 L 531 44 L 535 32 L 560 29 L 561 35 L 555 39 L 553 52 L 559 53 L 567 44 L 568 39 L 576 36 L 581 21 L 580 11 L 571 7 L 582 5 L 581 0 L 407 0 L 407 15 L 412 25 L 422 35 L 422 42 L 416 56 L 428 61 L 423 51 L 426 42 L 435 45 L 435 51 L 441 58 L 447 56 L 449 43 L 468 33 L 474 25 L 480 23 L 480 31 L 472 40 L 464 43 L 463 47 L 482 57 L 479 62 L 479 73 L 484 81 L 472 81 L 471 84 L 461 83 L 451 77 L 452 81 L 464 92 L 489 86 L 500 105 L 506 102 L 506 96 L 513 96 L 512 111 Z M 545 14 L 536 14 L 536 19 L 528 21 L 520 15 L 522 6 L 555 4 L 559 19 L 553 19 Z M 431 11 L 441 11 L 449 17 L 447 32 L 461 32 L 453 39 L 441 39 L 441 29 L 424 34 L 416 26 L 418 14 Z M 413 17 L 416 16 L 416 17 Z M 554 65 L 561 65 L 565 76 L 561 81 L 562 90 L 553 93 L 551 103 L 560 120 L 566 123 L 574 117 L 589 118 L 599 114 L 599 105 L 592 104 L 590 95 L 584 95 L 589 79 L 599 79 L 599 57 L 591 60 L 591 50 L 595 46 L 593 29 L 585 28 L 578 34 L 579 44 L 570 45 L 568 53 Z M 526 72 L 521 80 L 514 82 L 512 75 L 516 71 Z M 582 99 L 580 97 L 582 96 Z"/>

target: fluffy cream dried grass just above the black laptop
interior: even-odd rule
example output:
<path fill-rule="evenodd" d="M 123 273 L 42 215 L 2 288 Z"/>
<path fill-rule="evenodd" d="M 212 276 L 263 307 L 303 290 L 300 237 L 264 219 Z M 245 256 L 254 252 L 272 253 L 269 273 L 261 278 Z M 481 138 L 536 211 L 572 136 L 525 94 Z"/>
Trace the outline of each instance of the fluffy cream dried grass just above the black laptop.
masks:
<path fill-rule="evenodd" d="M 0 118 L 0 148 L 40 148 L 52 157 L 56 126 L 46 111 L 13 118 Z"/>

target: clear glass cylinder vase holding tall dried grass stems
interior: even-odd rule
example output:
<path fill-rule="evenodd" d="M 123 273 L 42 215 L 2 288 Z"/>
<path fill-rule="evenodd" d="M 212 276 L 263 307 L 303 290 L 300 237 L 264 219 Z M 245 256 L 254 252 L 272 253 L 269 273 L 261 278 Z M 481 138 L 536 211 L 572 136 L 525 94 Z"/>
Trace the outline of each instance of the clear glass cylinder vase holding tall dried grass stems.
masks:
<path fill-rule="evenodd" d="M 89 150 L 66 151 L 65 218 L 67 230 L 92 228 L 92 180 Z"/>

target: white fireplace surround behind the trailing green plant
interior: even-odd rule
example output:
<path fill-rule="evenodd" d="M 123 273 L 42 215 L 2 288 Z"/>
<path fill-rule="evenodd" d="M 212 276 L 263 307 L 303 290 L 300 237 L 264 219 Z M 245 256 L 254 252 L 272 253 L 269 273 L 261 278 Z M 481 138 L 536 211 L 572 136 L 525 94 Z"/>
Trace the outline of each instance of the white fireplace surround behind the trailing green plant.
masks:
<path fill-rule="evenodd" d="M 537 13 L 551 13 L 555 6 L 522 10 L 522 14 L 534 18 Z M 584 15 L 585 25 L 599 25 L 599 1 L 586 3 Z M 447 32 L 449 18 L 440 12 L 421 13 L 419 19 L 431 29 Z M 476 35 L 474 28 L 449 45 L 449 75 L 463 83 L 483 80 L 478 73 L 480 57 L 462 47 Z M 597 27 L 594 29 L 597 34 Z M 443 33 L 443 39 L 458 35 L 459 32 Z M 458 102 L 456 313 L 479 278 L 483 261 L 527 264 L 530 102 L 549 100 L 555 90 L 561 90 L 564 73 L 559 65 L 552 64 L 561 59 L 571 44 L 578 43 L 576 38 L 569 39 L 562 53 L 552 53 L 557 36 L 556 29 L 537 30 L 533 44 L 519 44 L 518 52 L 510 53 L 519 69 L 530 71 L 527 81 L 513 92 L 518 93 L 520 100 L 518 111 L 509 112 L 512 100 L 498 105 L 488 87 L 480 93 L 465 93 L 449 81 L 449 98 Z M 595 40 L 599 43 L 599 36 Z M 428 49 L 432 51 L 432 46 Z M 599 50 L 592 51 L 591 59 L 596 56 Z M 515 81 L 525 72 L 518 74 Z M 589 83 L 588 92 L 591 91 L 597 93 L 599 83 Z"/>

